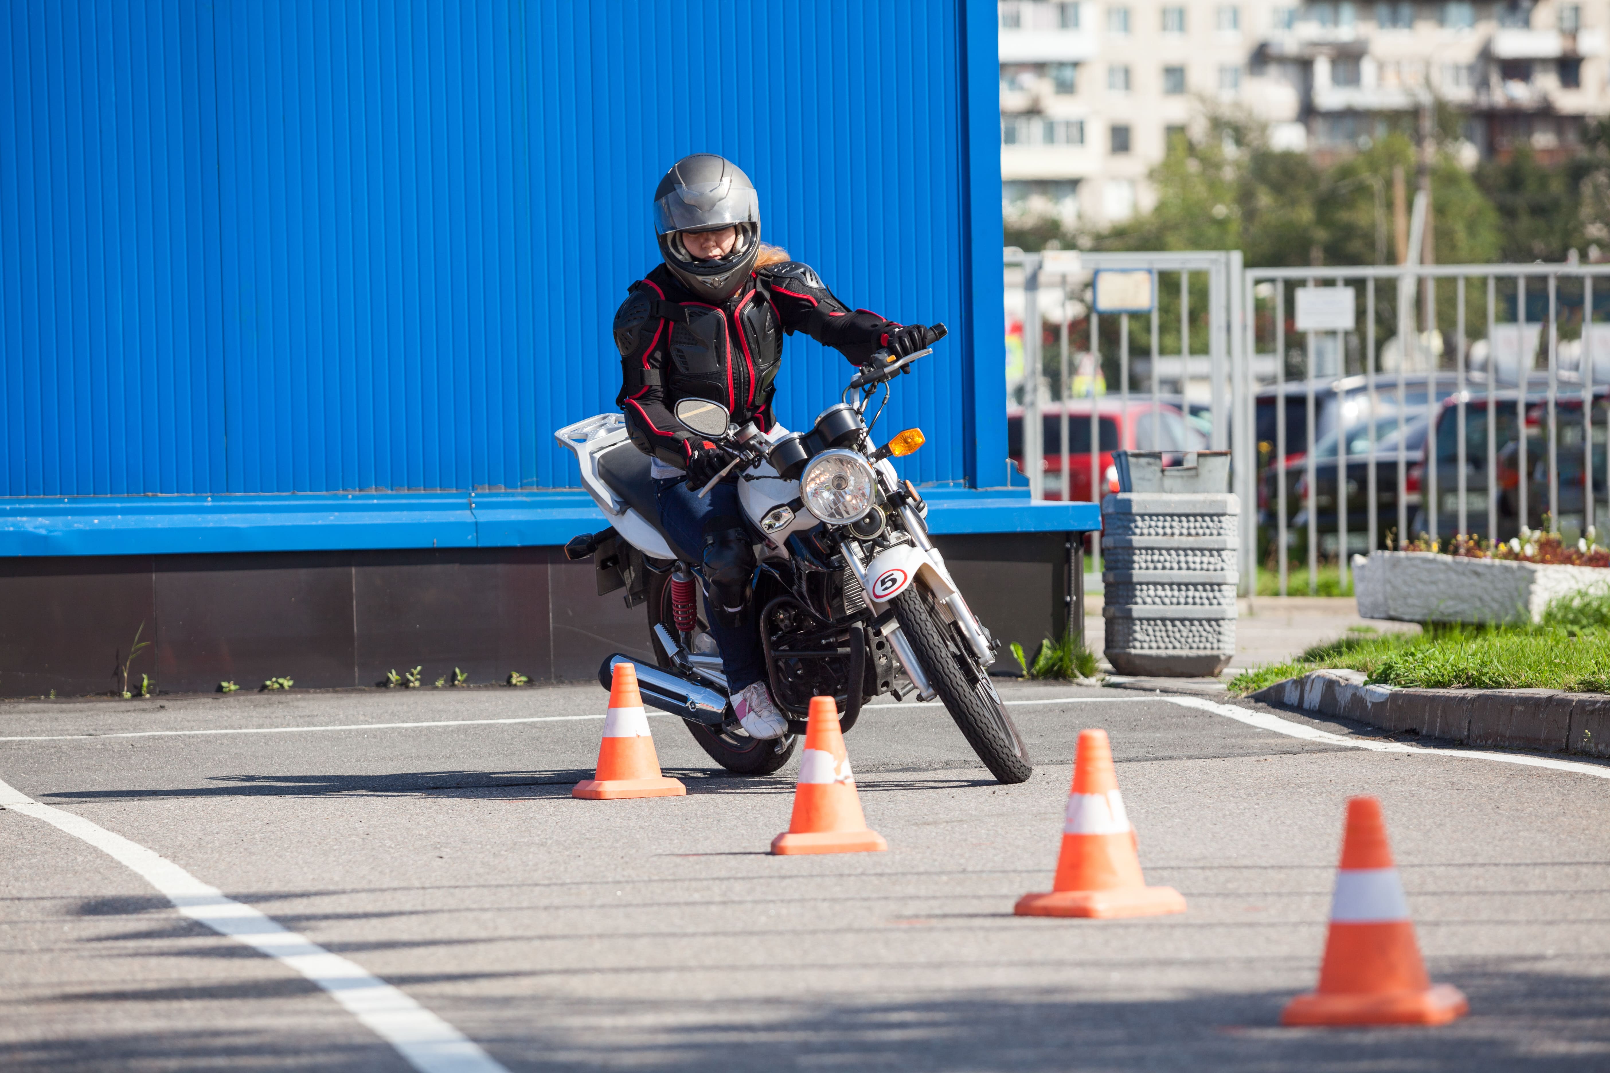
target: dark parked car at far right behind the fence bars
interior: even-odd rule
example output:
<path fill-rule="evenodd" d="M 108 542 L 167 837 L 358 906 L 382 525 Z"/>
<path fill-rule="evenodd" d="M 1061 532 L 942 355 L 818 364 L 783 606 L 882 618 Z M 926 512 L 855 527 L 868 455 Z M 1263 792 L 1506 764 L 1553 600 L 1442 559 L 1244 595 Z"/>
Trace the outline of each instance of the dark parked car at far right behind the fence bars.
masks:
<path fill-rule="evenodd" d="M 1520 441 L 1517 428 L 1517 394 L 1465 396 L 1465 529 L 1478 536 L 1494 536 L 1507 541 L 1520 532 Z M 1494 412 L 1494 455 L 1497 470 L 1497 532 L 1488 528 L 1488 407 Z M 1549 502 L 1549 428 L 1547 397 L 1536 391 L 1526 396 L 1526 526 L 1541 529 L 1544 515 L 1555 513 Z M 1596 391 L 1592 401 L 1594 442 L 1594 499 L 1605 499 L 1607 473 L 1604 462 L 1605 418 L 1610 415 L 1610 397 Z M 1583 402 L 1581 397 L 1555 401 L 1555 430 L 1558 438 L 1558 521 L 1563 528 L 1581 528 L 1584 523 L 1583 478 Z M 1443 402 L 1436 415 L 1436 532 L 1451 537 L 1459 531 L 1459 405 L 1457 399 Z M 1422 449 L 1417 476 L 1423 481 L 1431 465 L 1431 450 Z M 1430 532 L 1431 518 L 1425 504 L 1414 513 L 1410 532 Z"/>

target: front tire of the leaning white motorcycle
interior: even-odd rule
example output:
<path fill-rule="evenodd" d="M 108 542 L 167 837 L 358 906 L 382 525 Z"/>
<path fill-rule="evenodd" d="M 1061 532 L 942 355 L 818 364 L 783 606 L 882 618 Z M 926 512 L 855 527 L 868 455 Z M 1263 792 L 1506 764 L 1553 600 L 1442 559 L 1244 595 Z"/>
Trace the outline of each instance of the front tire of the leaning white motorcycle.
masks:
<path fill-rule="evenodd" d="M 972 660 L 956 627 L 940 618 L 934 597 L 923 586 L 910 586 L 894 598 L 894 606 L 900 629 L 961 737 L 1000 782 L 1027 782 L 1034 766 L 1022 735 L 989 672 Z"/>

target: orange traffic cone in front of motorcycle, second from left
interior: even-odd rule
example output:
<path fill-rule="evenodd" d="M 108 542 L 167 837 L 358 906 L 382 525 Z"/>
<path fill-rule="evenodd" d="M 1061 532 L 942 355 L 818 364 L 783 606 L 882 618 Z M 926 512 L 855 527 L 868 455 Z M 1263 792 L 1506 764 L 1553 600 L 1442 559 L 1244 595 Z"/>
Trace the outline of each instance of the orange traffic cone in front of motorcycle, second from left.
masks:
<path fill-rule="evenodd" d="M 882 835 L 866 828 L 839 730 L 839 709 L 832 697 L 811 697 L 794 819 L 771 840 L 771 853 L 882 853 L 887 848 Z"/>

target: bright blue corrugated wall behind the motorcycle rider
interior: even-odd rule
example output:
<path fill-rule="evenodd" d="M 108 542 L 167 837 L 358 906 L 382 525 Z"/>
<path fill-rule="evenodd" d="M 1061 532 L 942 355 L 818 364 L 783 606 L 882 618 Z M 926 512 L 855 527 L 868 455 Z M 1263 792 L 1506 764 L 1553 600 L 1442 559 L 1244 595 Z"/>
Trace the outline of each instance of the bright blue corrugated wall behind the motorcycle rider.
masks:
<path fill-rule="evenodd" d="M 952 325 L 884 421 L 929 433 L 910 476 L 1001 483 L 993 3 L 3 8 L 0 495 L 573 486 L 551 431 L 613 409 L 610 319 L 692 151 L 847 302 Z M 784 423 L 845 370 L 791 338 Z"/>

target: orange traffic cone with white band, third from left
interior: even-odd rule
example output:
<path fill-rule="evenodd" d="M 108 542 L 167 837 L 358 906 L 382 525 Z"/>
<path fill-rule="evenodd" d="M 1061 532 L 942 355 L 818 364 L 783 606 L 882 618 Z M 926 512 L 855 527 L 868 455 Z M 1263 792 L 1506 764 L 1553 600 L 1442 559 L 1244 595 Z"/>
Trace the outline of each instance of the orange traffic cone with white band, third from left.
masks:
<path fill-rule="evenodd" d="M 1080 730 L 1067 795 L 1063 856 L 1048 894 L 1024 894 L 1019 917 L 1158 917 L 1185 912 L 1172 886 L 1146 886 L 1135 828 L 1124 812 L 1106 730 Z"/>

